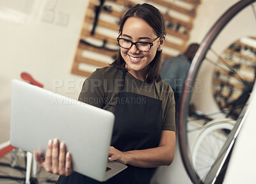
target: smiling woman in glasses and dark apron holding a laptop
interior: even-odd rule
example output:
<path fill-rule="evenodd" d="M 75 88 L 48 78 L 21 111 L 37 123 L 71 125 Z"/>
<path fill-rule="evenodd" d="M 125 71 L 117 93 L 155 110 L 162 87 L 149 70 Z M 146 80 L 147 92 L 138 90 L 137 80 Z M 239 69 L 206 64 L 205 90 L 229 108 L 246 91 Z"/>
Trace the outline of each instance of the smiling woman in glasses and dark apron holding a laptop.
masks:
<path fill-rule="evenodd" d="M 128 168 L 105 183 L 149 183 L 156 167 L 170 165 L 175 153 L 173 91 L 159 75 L 164 20 L 154 6 L 137 4 L 125 13 L 119 33 L 118 56 L 86 79 L 79 100 L 116 116 L 109 160 Z M 57 183 L 100 183 L 72 173 L 70 153 L 56 139 L 49 141 L 45 160 L 35 155 L 47 171 L 65 175 Z"/>

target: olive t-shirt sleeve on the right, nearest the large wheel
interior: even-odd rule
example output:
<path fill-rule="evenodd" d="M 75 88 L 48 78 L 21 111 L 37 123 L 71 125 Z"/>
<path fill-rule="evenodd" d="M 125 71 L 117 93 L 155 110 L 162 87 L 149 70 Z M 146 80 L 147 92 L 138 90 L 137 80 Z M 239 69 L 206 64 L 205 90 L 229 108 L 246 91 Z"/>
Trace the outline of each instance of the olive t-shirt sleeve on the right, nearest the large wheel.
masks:
<path fill-rule="evenodd" d="M 168 85 L 166 87 L 166 104 L 163 109 L 163 127 L 162 130 L 172 130 L 176 131 L 176 125 L 175 125 L 175 100 L 174 100 L 174 93 L 172 91 L 172 88 Z"/>

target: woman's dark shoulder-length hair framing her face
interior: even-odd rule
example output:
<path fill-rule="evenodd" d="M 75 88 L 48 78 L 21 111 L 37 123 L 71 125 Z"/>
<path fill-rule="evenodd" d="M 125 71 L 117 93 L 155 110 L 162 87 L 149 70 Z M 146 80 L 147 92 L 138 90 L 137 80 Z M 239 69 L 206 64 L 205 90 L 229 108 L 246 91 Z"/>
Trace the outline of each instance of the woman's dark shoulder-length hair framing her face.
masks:
<path fill-rule="evenodd" d="M 125 13 L 119 27 L 119 33 L 122 33 L 125 21 L 130 17 L 138 17 L 147 22 L 148 25 L 154 29 L 157 37 L 161 38 L 162 36 L 166 35 L 163 15 L 156 7 L 147 3 L 136 4 L 135 6 L 133 6 L 130 10 L 128 10 Z M 161 81 L 161 77 L 159 74 L 161 69 L 161 57 L 162 51 L 157 51 L 156 56 L 147 66 L 147 82 Z M 118 51 L 115 61 L 111 65 L 116 66 L 121 70 L 126 70 L 125 61 L 121 56 L 120 49 Z"/>

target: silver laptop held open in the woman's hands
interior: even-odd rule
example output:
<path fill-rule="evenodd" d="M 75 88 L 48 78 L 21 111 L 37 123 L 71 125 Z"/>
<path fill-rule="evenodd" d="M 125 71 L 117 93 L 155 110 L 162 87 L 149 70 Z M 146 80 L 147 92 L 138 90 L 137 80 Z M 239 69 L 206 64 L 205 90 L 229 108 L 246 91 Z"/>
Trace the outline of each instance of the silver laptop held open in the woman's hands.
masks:
<path fill-rule="evenodd" d="M 108 161 L 115 116 L 93 105 L 12 80 L 10 143 L 42 155 L 49 139 L 64 141 L 72 169 L 106 181 L 127 166 Z"/>

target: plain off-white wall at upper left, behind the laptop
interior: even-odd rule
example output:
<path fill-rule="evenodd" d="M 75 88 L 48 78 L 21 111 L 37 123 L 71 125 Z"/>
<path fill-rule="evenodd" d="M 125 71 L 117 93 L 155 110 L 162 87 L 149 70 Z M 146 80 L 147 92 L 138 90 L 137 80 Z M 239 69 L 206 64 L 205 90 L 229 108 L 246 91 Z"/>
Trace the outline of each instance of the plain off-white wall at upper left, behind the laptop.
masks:
<path fill-rule="evenodd" d="M 45 89 L 77 98 L 84 77 L 72 75 L 70 70 L 87 3 L 0 1 L 0 143 L 9 139 L 10 82 L 20 79 L 21 72 L 33 75 Z M 25 10 L 24 5 L 30 8 Z M 21 16 L 24 19 L 17 19 Z"/>

